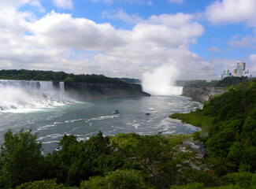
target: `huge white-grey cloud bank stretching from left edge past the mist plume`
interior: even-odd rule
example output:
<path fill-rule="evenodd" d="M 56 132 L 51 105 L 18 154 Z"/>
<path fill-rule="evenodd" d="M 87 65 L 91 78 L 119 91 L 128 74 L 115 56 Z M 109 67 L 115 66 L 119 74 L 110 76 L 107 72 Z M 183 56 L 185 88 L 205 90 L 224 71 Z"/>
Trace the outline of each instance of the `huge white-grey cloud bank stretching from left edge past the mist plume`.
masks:
<path fill-rule="evenodd" d="M 54 11 L 35 18 L 10 8 L 0 13 L 0 20 L 0 69 L 128 73 L 141 78 L 144 72 L 169 65 L 182 79 L 216 76 L 210 62 L 188 50 L 204 32 L 190 14 L 152 16 L 130 30 Z M 80 52 L 83 55 L 77 55 Z"/>

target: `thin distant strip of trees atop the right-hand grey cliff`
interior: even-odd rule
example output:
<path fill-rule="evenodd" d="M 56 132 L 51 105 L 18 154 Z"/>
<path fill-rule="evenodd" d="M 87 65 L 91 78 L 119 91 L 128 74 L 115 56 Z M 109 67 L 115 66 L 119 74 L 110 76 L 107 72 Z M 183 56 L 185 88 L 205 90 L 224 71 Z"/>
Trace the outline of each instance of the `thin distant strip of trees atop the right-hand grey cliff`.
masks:
<path fill-rule="evenodd" d="M 176 80 L 176 86 L 195 86 L 195 87 L 230 87 L 236 86 L 238 83 L 243 83 L 248 80 L 247 76 L 225 77 L 223 80 Z"/>

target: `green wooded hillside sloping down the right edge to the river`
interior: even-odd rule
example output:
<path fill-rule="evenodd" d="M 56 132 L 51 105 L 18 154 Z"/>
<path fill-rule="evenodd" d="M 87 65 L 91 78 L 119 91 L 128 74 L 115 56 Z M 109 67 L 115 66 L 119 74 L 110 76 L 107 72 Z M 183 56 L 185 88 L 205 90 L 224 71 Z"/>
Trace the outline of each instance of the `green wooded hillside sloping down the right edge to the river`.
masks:
<path fill-rule="evenodd" d="M 171 117 L 202 128 L 194 136 L 205 143 L 205 162 L 217 176 L 256 171 L 256 79 L 230 87 L 203 109 Z"/>

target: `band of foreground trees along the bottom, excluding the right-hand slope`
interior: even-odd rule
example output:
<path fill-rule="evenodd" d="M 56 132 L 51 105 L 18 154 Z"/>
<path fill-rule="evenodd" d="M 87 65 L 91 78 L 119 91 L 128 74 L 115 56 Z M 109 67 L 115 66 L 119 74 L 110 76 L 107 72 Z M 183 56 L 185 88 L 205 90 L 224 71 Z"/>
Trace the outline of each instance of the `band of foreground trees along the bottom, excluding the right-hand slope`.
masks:
<path fill-rule="evenodd" d="M 78 142 L 76 136 L 64 135 L 62 149 L 43 156 L 31 130 L 9 131 L 0 152 L 0 187 L 170 188 L 191 181 L 214 186 L 216 175 L 200 166 L 201 159 L 178 150 L 186 138 L 135 133 L 104 137 L 98 132 Z"/>

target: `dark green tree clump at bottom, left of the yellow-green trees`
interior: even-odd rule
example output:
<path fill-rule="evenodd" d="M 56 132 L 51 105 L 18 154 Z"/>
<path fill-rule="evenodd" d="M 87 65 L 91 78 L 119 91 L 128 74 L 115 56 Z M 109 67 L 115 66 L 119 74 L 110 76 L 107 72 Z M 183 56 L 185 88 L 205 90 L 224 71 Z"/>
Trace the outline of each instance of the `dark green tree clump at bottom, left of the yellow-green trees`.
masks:
<path fill-rule="evenodd" d="M 103 176 L 106 172 L 132 167 L 132 161 L 114 153 L 109 137 L 102 132 L 88 141 L 78 142 L 74 135 L 64 135 L 60 141 L 62 150 L 48 154 L 49 177 L 70 186 L 79 185 L 90 176 Z"/>

